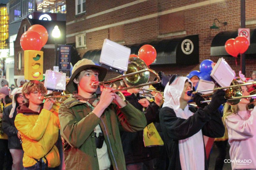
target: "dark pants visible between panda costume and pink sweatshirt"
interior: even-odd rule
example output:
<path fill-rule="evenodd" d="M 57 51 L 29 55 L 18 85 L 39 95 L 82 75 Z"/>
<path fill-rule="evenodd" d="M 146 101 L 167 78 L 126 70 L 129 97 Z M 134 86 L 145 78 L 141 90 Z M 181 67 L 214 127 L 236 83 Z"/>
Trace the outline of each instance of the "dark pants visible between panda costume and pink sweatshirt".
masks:
<path fill-rule="evenodd" d="M 228 140 L 214 142 L 219 151 L 218 157 L 216 158 L 215 161 L 215 170 L 222 170 L 223 168 L 224 160 L 227 155 L 227 142 Z"/>

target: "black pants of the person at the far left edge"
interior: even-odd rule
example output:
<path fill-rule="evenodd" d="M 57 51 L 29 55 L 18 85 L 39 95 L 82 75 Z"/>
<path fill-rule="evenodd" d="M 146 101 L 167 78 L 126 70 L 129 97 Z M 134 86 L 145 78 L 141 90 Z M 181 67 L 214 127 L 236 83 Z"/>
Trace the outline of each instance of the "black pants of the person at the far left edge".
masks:
<path fill-rule="evenodd" d="M 8 140 L 0 139 L 0 170 L 3 170 L 4 163 L 6 170 L 12 169 L 13 158 L 8 149 Z"/>

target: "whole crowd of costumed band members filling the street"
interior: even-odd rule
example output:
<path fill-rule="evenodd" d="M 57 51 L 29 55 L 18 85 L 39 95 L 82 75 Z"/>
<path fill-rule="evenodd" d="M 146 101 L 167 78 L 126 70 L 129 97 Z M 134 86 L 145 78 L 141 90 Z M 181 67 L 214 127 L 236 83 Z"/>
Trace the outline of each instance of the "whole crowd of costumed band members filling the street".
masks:
<path fill-rule="evenodd" d="M 256 169 L 256 108 L 246 97 L 254 85 L 241 86 L 245 98 L 230 106 L 224 90 L 215 91 L 209 104 L 190 96 L 197 75 L 172 75 L 163 95 L 153 91 L 149 98 L 124 82 L 93 85 L 106 74 L 91 60 L 78 61 L 66 85 L 73 95 L 61 104 L 43 97 L 41 81 L 2 87 L 0 170 L 203 170 L 210 159 L 205 136 L 219 149 L 215 169 L 224 163 Z M 240 75 L 240 84 L 256 79 L 256 72 L 251 79 Z M 228 143 L 230 160 L 246 163 L 227 161 Z"/>

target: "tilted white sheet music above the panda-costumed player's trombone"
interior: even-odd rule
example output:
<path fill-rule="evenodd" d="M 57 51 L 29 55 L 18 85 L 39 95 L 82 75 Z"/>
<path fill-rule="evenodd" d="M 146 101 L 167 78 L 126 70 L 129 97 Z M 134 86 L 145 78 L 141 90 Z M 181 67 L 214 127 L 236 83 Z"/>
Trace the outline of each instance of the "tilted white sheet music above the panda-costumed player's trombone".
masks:
<path fill-rule="evenodd" d="M 235 78 L 235 72 L 223 58 L 219 58 L 213 68 L 211 77 L 213 77 L 221 87 L 227 87 L 230 86 L 232 80 Z"/>

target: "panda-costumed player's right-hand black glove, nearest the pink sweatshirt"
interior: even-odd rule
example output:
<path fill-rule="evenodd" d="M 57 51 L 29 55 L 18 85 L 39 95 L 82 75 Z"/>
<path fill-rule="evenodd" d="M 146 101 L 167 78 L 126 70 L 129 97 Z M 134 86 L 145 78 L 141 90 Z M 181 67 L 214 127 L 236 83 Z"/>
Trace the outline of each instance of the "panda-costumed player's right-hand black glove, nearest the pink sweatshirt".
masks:
<path fill-rule="evenodd" d="M 213 93 L 212 100 L 209 104 L 209 109 L 211 109 L 211 111 L 216 111 L 221 106 L 221 104 L 226 102 L 227 100 L 225 99 L 225 91 L 217 90 L 215 93 Z"/>

